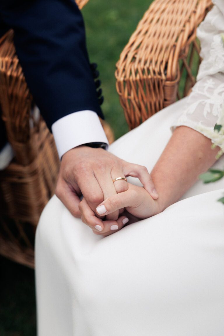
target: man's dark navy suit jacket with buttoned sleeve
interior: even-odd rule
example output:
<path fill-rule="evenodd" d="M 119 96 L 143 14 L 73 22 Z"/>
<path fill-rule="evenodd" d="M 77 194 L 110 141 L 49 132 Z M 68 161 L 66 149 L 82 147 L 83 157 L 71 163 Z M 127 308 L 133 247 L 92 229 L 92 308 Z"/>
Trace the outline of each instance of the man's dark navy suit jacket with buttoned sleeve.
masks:
<path fill-rule="evenodd" d="M 74 0 L 0 0 L 0 36 L 10 28 L 28 87 L 49 129 L 77 111 L 103 117 L 96 70 L 89 63 L 83 18 Z M 1 149 L 6 140 L 2 124 L 0 132 Z"/>

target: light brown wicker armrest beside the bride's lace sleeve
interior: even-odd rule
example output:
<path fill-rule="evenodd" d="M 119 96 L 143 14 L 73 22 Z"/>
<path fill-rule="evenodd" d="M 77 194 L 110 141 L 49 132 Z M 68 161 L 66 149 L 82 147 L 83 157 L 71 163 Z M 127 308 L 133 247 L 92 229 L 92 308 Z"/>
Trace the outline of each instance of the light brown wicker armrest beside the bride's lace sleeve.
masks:
<path fill-rule="evenodd" d="M 115 73 L 130 129 L 194 85 L 200 50 L 196 28 L 211 7 L 211 0 L 155 0 L 144 14 Z"/>

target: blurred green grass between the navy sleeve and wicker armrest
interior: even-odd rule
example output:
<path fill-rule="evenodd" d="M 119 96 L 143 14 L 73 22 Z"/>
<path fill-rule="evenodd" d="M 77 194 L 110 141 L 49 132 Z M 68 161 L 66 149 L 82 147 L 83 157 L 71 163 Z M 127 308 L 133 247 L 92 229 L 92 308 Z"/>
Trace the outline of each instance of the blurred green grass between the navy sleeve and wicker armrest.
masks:
<path fill-rule="evenodd" d="M 104 95 L 102 110 L 118 138 L 128 131 L 115 87 L 115 65 L 152 2 L 146 0 L 90 0 L 82 12 L 86 24 L 90 61 L 98 64 Z"/>

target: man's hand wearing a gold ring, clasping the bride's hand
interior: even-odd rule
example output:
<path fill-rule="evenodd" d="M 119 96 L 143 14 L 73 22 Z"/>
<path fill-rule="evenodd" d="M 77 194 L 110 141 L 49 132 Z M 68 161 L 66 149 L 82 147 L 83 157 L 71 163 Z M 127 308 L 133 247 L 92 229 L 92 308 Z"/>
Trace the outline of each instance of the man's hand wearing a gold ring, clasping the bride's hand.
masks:
<path fill-rule="evenodd" d="M 128 183 L 117 177 L 138 177 L 152 198 L 158 198 L 151 176 L 144 166 L 128 163 L 101 149 L 85 145 L 76 147 L 62 157 L 55 194 L 75 217 L 81 217 L 80 196 L 96 213 L 96 207 L 108 197 L 127 191 Z M 117 220 L 119 211 L 107 220 Z"/>

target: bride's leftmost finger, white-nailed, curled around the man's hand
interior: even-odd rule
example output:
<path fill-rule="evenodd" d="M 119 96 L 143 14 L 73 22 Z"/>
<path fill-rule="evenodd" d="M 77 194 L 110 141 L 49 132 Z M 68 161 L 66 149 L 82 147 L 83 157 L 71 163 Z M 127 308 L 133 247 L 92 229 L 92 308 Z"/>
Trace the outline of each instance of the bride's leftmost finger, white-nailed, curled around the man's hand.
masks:
<path fill-rule="evenodd" d="M 95 213 L 90 208 L 85 198 L 83 198 L 79 203 L 79 209 L 81 212 L 81 219 L 85 224 L 87 224 L 89 227 L 91 227 L 92 230 L 96 232 L 103 231 L 104 225 L 102 219 L 95 216 Z"/>

